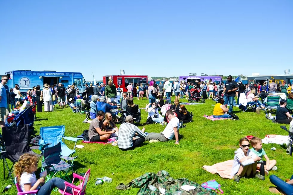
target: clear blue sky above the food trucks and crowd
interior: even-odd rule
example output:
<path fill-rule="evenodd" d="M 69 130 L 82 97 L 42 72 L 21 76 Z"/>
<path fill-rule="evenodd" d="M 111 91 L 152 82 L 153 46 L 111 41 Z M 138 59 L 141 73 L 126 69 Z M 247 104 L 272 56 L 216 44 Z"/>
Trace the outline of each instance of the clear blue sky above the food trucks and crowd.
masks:
<path fill-rule="evenodd" d="M 293 72 L 293 1 L 0 1 L 0 69 Z"/>

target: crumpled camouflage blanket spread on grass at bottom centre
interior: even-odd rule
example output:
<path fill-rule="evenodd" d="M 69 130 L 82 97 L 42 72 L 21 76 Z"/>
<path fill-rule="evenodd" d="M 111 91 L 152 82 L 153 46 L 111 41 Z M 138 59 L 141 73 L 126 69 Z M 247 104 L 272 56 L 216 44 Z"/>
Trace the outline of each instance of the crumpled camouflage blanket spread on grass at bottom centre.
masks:
<path fill-rule="evenodd" d="M 155 187 L 155 191 L 149 189 L 149 186 L 152 185 Z M 181 188 L 183 185 L 194 186 L 194 190 L 185 191 Z M 166 194 L 172 195 L 176 194 L 181 195 L 216 195 L 216 192 L 212 192 L 202 188 L 198 183 L 190 181 L 186 178 L 173 179 L 167 171 L 161 170 L 157 174 L 155 173 L 145 173 L 142 176 L 139 176 L 135 179 L 132 179 L 131 182 L 124 185 L 120 183 L 116 189 L 117 190 L 127 190 L 131 187 L 140 188 L 137 195 L 159 195 Z"/>

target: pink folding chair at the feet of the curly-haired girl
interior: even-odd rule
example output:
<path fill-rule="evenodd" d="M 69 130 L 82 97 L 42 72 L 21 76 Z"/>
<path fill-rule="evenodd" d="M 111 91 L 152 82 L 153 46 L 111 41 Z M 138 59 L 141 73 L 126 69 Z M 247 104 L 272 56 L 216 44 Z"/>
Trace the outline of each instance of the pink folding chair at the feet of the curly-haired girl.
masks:
<path fill-rule="evenodd" d="M 88 171 L 86 171 L 86 174 L 83 177 L 80 175 L 77 175 L 76 173 L 73 173 L 72 183 L 65 181 L 64 182 L 65 189 L 64 189 L 64 191 L 59 189 L 59 193 L 63 194 L 63 195 L 84 195 L 84 194 L 86 194 L 86 184 L 88 182 L 88 178 L 89 178 L 90 173 L 91 173 L 91 169 L 88 169 Z M 75 178 L 79 179 L 80 185 L 78 185 L 78 186 L 73 185 Z M 71 188 L 72 194 L 65 192 L 66 188 Z"/>

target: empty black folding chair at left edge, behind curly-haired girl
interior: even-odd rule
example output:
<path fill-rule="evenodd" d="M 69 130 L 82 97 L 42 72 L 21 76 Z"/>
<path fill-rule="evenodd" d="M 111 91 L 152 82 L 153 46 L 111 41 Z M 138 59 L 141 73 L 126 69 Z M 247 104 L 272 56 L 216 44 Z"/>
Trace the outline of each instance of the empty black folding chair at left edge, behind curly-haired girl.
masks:
<path fill-rule="evenodd" d="M 20 125 L 20 126 L 11 126 L 11 127 L 2 127 L 2 151 L 1 159 L 3 159 L 3 175 L 5 179 L 5 166 L 8 169 L 8 177 L 10 176 L 12 181 L 12 169 L 14 163 L 16 163 L 19 157 L 25 153 L 34 154 L 29 145 L 29 125 Z M 9 159 L 13 165 L 11 168 L 8 167 L 6 158 Z M 7 178 L 8 178 L 7 177 Z"/>

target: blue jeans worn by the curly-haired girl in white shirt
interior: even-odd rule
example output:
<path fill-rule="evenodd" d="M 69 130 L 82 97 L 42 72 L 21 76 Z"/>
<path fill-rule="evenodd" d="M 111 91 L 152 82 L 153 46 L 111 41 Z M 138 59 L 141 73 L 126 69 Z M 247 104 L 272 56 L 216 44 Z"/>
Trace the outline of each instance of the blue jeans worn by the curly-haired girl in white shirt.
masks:
<path fill-rule="evenodd" d="M 46 182 L 38 191 L 38 195 L 50 195 L 51 191 L 54 188 L 59 188 L 60 190 L 65 189 L 64 180 L 59 177 L 54 177 L 50 179 L 48 182 Z M 72 188 L 67 187 L 66 192 L 72 194 Z"/>

